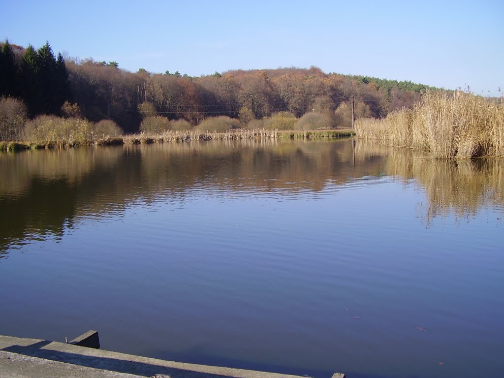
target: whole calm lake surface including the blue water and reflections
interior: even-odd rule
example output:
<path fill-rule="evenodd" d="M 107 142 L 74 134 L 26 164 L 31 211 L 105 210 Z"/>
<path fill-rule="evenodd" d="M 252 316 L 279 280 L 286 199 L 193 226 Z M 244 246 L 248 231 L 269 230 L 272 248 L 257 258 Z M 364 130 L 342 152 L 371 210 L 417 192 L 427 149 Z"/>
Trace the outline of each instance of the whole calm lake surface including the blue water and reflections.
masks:
<path fill-rule="evenodd" d="M 352 141 L 0 154 L 0 334 L 316 378 L 504 370 L 504 163 Z M 443 363 L 443 364 L 439 364 Z"/>

